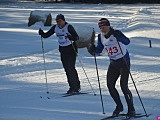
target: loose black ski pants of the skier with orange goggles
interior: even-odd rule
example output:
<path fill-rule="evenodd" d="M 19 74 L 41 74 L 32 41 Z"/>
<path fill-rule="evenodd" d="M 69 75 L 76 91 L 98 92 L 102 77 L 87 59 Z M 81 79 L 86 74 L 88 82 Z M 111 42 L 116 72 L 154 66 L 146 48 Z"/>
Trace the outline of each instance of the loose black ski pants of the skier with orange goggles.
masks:
<path fill-rule="evenodd" d="M 76 63 L 76 52 L 73 49 L 73 46 L 67 46 L 60 48 L 61 61 L 66 72 L 67 80 L 70 89 L 78 90 L 80 89 L 80 81 L 78 77 L 77 70 L 75 68 Z"/>

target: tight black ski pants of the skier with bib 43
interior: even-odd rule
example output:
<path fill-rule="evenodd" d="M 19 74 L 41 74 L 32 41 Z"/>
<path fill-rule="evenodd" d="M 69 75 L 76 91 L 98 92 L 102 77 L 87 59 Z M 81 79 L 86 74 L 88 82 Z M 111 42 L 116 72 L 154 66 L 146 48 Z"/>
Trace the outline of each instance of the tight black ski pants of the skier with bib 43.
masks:
<path fill-rule="evenodd" d="M 123 107 L 122 102 L 120 100 L 119 93 L 115 88 L 116 81 L 120 76 L 120 86 L 128 105 L 128 111 L 132 111 L 134 110 L 133 98 L 132 98 L 132 93 L 128 88 L 128 77 L 129 77 L 128 69 L 130 69 L 130 64 L 128 64 L 128 68 L 125 63 L 124 65 L 122 64 L 123 63 L 121 63 L 121 65 L 117 65 L 117 64 L 111 63 L 109 65 L 108 72 L 107 72 L 107 87 L 117 107 Z"/>

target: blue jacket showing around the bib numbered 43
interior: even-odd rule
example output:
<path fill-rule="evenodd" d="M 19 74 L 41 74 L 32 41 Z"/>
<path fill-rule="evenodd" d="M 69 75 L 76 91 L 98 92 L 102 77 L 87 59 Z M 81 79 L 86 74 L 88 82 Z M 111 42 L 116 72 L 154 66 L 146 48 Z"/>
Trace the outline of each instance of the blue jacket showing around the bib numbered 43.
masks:
<path fill-rule="evenodd" d="M 119 30 L 114 30 L 111 28 L 111 32 L 109 34 L 110 35 L 114 35 L 117 39 L 117 42 L 121 42 L 123 43 L 124 45 L 128 45 L 130 43 L 130 40 L 129 38 L 127 38 L 121 31 Z M 109 37 L 108 36 L 108 37 Z M 104 45 L 102 44 L 101 42 L 101 34 L 98 34 L 98 42 L 97 42 L 97 46 L 96 46 L 96 51 L 95 53 L 96 54 L 100 54 L 102 52 L 102 50 L 104 49 Z M 128 64 L 130 64 L 130 57 L 129 57 L 129 52 L 127 51 L 126 54 L 124 55 L 124 59 L 126 60 L 126 62 Z M 123 60 L 124 61 L 124 60 Z M 111 63 L 118 63 L 118 64 L 121 64 L 121 60 L 118 59 L 118 60 L 112 60 L 110 59 L 110 62 Z"/>

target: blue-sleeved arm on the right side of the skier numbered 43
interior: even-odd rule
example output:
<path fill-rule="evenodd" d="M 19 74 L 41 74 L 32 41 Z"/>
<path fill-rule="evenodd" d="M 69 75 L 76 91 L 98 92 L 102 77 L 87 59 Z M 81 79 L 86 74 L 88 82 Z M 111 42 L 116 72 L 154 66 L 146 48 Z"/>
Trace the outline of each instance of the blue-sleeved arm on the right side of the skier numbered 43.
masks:
<path fill-rule="evenodd" d="M 122 42 L 125 45 L 128 45 L 130 43 L 130 40 L 128 37 L 126 37 L 121 31 L 115 30 L 114 36 L 119 42 Z"/>

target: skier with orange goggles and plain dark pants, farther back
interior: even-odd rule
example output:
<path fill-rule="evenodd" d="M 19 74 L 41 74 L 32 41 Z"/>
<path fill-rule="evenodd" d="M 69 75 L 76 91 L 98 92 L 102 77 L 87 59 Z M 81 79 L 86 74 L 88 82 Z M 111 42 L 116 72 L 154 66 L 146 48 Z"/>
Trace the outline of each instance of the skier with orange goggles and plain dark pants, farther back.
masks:
<path fill-rule="evenodd" d="M 53 25 L 46 33 L 40 29 L 39 35 L 43 38 L 48 38 L 56 33 L 59 42 L 61 61 L 70 86 L 67 94 L 77 93 L 80 91 L 80 81 L 77 70 L 75 69 L 78 52 L 75 41 L 79 39 L 79 36 L 73 26 L 65 21 L 64 15 L 58 14 L 56 16 L 56 22 L 57 24 Z"/>

